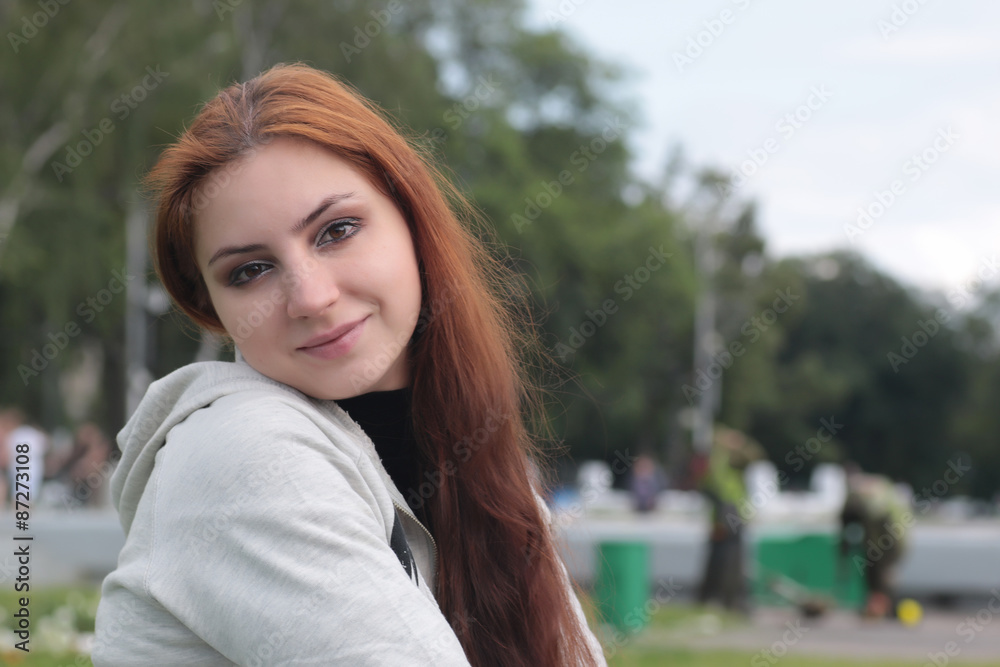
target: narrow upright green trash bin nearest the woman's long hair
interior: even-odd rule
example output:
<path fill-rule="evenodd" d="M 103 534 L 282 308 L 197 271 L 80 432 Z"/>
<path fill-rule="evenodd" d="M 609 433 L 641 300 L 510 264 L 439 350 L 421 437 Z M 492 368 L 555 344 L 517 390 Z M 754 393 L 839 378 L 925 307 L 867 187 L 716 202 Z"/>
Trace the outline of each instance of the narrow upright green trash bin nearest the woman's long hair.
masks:
<path fill-rule="evenodd" d="M 619 630 L 636 632 L 649 621 L 649 545 L 645 542 L 601 542 L 597 551 L 594 593 L 604 620 Z"/>

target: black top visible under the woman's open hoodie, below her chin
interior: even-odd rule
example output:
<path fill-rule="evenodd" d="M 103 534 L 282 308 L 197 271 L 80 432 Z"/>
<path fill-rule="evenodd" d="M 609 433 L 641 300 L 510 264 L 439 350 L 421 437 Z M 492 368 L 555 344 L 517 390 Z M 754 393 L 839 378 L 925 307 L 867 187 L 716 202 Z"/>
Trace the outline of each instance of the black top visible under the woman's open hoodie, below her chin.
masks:
<path fill-rule="evenodd" d="M 337 401 L 351 419 L 375 443 L 389 477 L 403 494 L 410 511 L 431 531 L 430 513 L 425 510 L 426 496 L 420 495 L 422 458 L 413 437 L 410 390 L 376 391 Z M 426 488 L 424 489 L 427 490 Z"/>

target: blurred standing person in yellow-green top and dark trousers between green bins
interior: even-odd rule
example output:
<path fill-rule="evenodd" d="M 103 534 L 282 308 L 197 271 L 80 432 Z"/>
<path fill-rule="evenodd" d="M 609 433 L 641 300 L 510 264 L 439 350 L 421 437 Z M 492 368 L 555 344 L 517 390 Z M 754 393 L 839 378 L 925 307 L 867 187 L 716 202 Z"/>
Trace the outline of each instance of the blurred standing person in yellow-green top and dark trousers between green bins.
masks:
<path fill-rule="evenodd" d="M 698 601 L 702 604 L 714 601 L 726 609 L 746 613 L 750 605 L 743 534 L 749 517 L 740 512 L 747 502 L 743 474 L 751 461 L 763 457 L 763 450 L 731 428 L 719 426 L 714 434 L 708 467 L 700 484 L 712 512 Z"/>

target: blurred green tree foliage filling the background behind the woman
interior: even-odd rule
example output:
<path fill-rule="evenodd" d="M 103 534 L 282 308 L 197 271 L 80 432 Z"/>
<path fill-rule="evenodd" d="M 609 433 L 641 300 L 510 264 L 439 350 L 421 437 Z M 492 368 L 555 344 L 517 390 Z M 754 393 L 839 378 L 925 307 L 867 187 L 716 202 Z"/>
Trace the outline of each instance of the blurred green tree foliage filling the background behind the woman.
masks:
<path fill-rule="evenodd" d="M 121 427 L 126 297 L 88 304 L 124 266 L 126 218 L 148 215 L 142 174 L 221 86 L 304 61 L 398 118 L 490 221 L 531 285 L 546 349 L 575 377 L 556 388 L 553 410 L 574 457 L 645 449 L 680 476 L 682 388 L 698 370 L 693 319 L 706 287 L 693 237 L 711 210 L 719 338 L 745 348 L 721 379 L 722 421 L 782 467 L 820 418 L 843 422 L 790 471 L 799 480 L 851 457 L 920 485 L 962 455 L 975 472 L 953 491 L 1000 488 L 998 299 L 968 317 L 949 310 L 947 326 L 894 367 L 887 355 L 935 306 L 849 254 L 772 260 L 753 205 L 725 199 L 719 176 L 682 160 L 662 184 L 639 181 L 622 72 L 565 33 L 526 30 L 520 0 L 100 0 L 59 4 L 32 32 L 23 21 L 38 7 L 0 10 L 5 33 L 31 32 L 0 59 L 0 404 L 69 426 L 64 380 L 96 359 L 85 416 Z M 702 188 L 678 204 L 677 182 L 690 177 Z M 151 268 L 134 279 L 155 283 Z M 782 290 L 797 300 L 755 324 Z M 19 367 L 70 324 L 65 349 L 23 381 Z M 154 376 L 194 357 L 197 334 L 176 314 L 148 325 Z"/>

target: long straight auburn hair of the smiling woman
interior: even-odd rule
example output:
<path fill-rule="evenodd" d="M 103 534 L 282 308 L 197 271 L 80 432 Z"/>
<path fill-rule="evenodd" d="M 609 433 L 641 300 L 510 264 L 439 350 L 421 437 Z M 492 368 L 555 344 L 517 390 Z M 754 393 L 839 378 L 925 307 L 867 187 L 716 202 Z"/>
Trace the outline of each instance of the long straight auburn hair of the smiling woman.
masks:
<path fill-rule="evenodd" d="M 193 219 L 210 174 L 224 177 L 279 136 L 347 160 L 409 225 L 423 298 L 410 344 L 414 433 L 439 483 L 427 500 L 437 599 L 469 661 L 593 664 L 531 479 L 537 445 L 526 417 L 539 403 L 522 352 L 533 328 L 511 307 L 509 274 L 460 221 L 475 217 L 472 207 L 373 104 L 300 64 L 222 90 L 147 177 L 160 280 L 194 322 L 224 333 L 194 260 Z"/>

